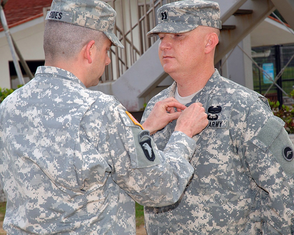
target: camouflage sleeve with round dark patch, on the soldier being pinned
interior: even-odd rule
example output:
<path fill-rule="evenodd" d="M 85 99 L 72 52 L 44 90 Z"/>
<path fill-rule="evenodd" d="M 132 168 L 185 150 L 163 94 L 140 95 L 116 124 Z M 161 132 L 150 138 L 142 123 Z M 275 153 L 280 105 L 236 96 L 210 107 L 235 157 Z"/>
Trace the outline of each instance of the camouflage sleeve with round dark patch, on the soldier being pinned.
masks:
<path fill-rule="evenodd" d="M 244 165 L 260 187 L 262 234 L 293 234 L 293 143 L 284 122 L 270 108 L 255 102 L 245 118 L 241 150 Z M 242 146 L 242 145 L 240 145 Z"/>

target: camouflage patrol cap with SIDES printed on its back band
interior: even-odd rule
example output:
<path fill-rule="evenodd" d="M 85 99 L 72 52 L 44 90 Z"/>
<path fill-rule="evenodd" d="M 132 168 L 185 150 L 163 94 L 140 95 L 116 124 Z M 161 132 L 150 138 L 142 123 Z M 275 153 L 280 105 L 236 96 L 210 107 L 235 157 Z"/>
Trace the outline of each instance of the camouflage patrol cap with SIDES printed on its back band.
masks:
<path fill-rule="evenodd" d="M 115 46 L 124 48 L 112 32 L 115 18 L 115 10 L 107 3 L 97 0 L 53 0 L 46 16 L 46 20 L 62 21 L 102 31 Z"/>

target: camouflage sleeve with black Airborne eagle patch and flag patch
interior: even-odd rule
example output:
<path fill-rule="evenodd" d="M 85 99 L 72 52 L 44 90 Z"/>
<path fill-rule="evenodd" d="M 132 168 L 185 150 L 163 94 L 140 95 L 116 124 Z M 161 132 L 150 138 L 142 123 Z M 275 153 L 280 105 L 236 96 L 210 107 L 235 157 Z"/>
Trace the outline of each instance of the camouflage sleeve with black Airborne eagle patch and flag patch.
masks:
<path fill-rule="evenodd" d="M 102 128 L 99 138 L 111 156 L 111 176 L 122 189 L 146 206 L 178 201 L 193 174 L 188 162 L 196 147 L 193 139 L 174 132 L 165 151 L 159 151 L 149 132 L 135 125 L 117 102 L 103 116 Z"/>

